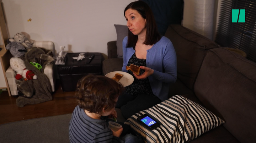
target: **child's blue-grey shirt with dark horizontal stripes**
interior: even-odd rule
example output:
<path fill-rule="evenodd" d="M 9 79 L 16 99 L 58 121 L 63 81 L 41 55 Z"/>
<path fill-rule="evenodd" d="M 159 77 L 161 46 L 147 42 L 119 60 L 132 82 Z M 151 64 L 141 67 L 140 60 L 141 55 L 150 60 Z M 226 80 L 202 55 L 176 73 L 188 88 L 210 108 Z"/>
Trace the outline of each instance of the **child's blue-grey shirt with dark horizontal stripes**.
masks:
<path fill-rule="evenodd" d="M 79 106 L 69 122 L 69 140 L 70 143 L 123 143 L 113 136 L 105 120 L 92 119 Z"/>

